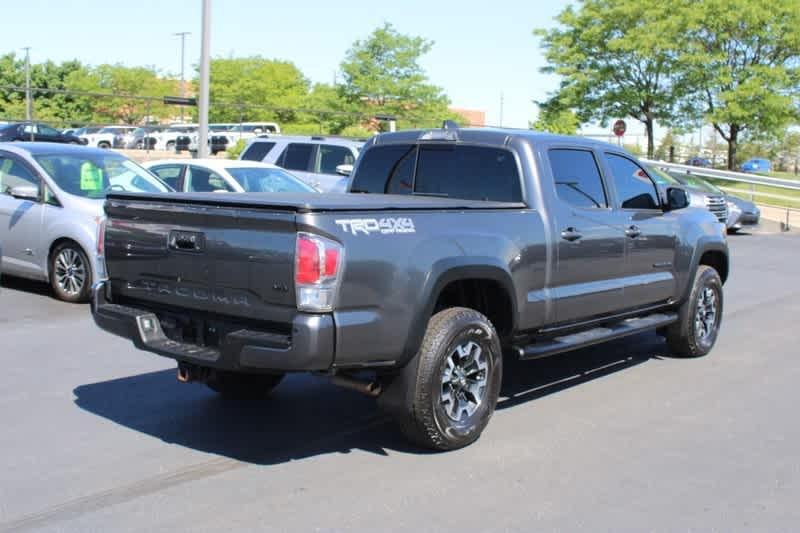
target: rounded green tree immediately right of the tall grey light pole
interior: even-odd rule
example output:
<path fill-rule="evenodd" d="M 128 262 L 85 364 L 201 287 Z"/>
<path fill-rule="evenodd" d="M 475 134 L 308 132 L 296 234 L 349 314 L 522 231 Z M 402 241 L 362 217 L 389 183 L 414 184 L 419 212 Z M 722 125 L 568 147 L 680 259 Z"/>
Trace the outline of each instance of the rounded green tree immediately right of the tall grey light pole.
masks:
<path fill-rule="evenodd" d="M 261 56 L 211 60 L 209 110 L 212 122 L 295 122 L 308 97 L 309 82 L 294 63 Z"/>

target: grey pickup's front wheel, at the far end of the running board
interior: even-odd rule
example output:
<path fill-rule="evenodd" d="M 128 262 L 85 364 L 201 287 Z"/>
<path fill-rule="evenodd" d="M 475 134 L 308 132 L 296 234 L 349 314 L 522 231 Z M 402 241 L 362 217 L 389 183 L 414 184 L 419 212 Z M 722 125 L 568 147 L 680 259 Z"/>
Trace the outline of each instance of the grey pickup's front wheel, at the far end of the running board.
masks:
<path fill-rule="evenodd" d="M 714 347 L 722 322 L 722 280 L 716 270 L 700 265 L 689 298 L 678 310 L 678 321 L 666 331 L 673 355 L 700 357 Z"/>

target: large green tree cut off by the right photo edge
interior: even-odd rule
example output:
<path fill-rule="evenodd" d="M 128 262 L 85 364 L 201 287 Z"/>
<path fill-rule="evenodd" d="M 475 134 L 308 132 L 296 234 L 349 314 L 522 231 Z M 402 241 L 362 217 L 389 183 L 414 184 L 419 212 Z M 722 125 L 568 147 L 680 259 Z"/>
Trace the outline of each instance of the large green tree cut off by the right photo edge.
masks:
<path fill-rule="evenodd" d="M 737 163 L 740 136 L 776 134 L 797 117 L 800 3 L 698 0 L 682 39 L 680 71 L 701 112 Z"/>

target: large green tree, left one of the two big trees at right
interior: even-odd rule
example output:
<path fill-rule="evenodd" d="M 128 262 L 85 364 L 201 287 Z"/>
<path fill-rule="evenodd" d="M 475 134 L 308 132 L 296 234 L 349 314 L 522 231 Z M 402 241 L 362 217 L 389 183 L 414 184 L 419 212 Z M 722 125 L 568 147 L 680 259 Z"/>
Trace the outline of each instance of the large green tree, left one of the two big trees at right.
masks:
<path fill-rule="evenodd" d="M 581 122 L 631 117 L 647 131 L 654 152 L 656 120 L 675 119 L 684 88 L 671 75 L 683 41 L 687 0 L 584 0 L 567 7 L 559 26 L 535 30 L 549 65 L 561 76 L 557 98 Z"/>

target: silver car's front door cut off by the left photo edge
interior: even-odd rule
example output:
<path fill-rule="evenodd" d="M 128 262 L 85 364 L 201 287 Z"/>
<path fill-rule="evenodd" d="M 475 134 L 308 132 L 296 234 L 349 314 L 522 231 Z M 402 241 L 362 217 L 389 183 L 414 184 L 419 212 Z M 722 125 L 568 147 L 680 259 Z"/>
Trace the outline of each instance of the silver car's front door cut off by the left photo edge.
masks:
<path fill-rule="evenodd" d="M 36 187 L 41 197 L 39 176 L 19 157 L 0 152 L 0 242 L 3 243 L 3 271 L 20 276 L 43 274 L 42 203 L 15 198 L 14 187 Z"/>

